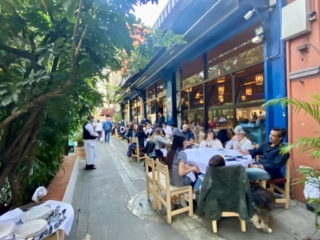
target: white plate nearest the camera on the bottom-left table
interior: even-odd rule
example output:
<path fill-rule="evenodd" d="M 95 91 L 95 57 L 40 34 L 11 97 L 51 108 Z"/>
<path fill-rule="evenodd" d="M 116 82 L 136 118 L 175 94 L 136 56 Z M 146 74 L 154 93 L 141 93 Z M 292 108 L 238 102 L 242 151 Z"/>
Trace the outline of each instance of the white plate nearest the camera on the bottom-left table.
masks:
<path fill-rule="evenodd" d="M 35 236 L 45 231 L 48 222 L 43 219 L 32 220 L 30 222 L 20 225 L 15 231 L 15 236 L 17 238 L 27 238 Z"/>

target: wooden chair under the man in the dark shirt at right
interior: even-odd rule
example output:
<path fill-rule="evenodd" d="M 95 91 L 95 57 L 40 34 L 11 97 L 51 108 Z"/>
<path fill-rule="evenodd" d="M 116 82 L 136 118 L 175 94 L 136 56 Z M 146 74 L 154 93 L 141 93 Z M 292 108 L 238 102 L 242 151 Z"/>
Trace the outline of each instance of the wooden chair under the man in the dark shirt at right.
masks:
<path fill-rule="evenodd" d="M 290 159 L 287 160 L 285 165 L 285 177 L 278 179 L 270 179 L 261 181 L 261 186 L 268 189 L 272 194 L 277 190 L 283 194 L 283 198 L 276 198 L 276 203 L 284 204 L 285 209 L 289 209 L 290 203 Z M 284 184 L 284 189 L 278 187 L 276 184 Z M 267 188 L 268 185 L 268 188 Z"/>

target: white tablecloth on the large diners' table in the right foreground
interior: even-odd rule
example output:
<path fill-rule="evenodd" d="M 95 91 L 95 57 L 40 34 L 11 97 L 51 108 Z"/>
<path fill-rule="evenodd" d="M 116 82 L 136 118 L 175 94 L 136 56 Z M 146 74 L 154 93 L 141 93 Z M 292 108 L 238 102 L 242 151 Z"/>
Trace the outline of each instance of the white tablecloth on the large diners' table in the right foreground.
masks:
<path fill-rule="evenodd" d="M 211 148 L 192 148 L 185 150 L 187 154 L 187 161 L 190 164 L 195 164 L 198 166 L 201 173 L 205 174 L 206 169 L 209 163 L 209 160 L 214 155 L 229 155 L 229 156 L 243 156 L 243 159 L 237 161 L 226 161 L 226 166 L 242 165 L 247 168 L 250 163 L 254 160 L 250 155 L 241 155 L 237 150 L 233 149 L 223 149 L 223 150 L 214 150 Z M 187 175 L 191 178 L 192 181 L 195 181 L 196 177 L 193 172 Z"/>

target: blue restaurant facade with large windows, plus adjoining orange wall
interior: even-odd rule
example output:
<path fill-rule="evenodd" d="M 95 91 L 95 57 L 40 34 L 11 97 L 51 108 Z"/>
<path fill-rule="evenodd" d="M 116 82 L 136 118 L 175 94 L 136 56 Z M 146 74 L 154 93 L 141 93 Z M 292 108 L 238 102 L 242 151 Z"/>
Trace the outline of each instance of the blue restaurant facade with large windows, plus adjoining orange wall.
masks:
<path fill-rule="evenodd" d="M 296 1 L 310 2 L 319 11 L 317 0 Z M 283 8 L 291 2 L 169 1 L 155 27 L 184 34 L 187 44 L 158 51 L 146 69 L 123 83 L 124 119 L 139 122 L 144 115 L 155 122 L 161 111 L 169 124 L 194 121 L 207 128 L 210 120 L 224 116 L 230 127 L 241 124 L 253 143 L 267 141 L 274 126 L 289 129 L 289 140 L 293 140 L 303 131 L 293 130 L 301 124 L 299 116 L 290 113 L 288 117 L 284 106 L 262 106 L 270 99 L 301 95 L 301 83 L 287 76 L 301 69 L 294 50 L 306 37 L 284 40 L 282 36 Z M 308 40 L 319 49 L 316 22 Z M 316 65 L 311 58 L 319 60 L 319 51 L 309 54 L 309 60 L 303 61 L 305 68 Z M 318 88 L 314 92 L 318 93 L 318 81 L 319 74 L 303 86 L 307 92 Z M 250 124 L 254 115 L 263 116 L 259 124 Z M 294 162 L 296 158 L 294 153 Z M 296 197 L 301 200 L 301 186 Z"/>

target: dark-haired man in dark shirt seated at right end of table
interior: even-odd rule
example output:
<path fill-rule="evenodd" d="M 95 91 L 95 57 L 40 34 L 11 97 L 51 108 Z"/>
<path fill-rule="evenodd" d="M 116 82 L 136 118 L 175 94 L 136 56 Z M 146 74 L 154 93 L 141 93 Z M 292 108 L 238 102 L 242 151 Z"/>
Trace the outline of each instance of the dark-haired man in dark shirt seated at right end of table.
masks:
<path fill-rule="evenodd" d="M 281 154 L 280 149 L 287 131 L 281 127 L 272 128 L 269 135 L 269 142 L 262 144 L 259 148 L 248 151 L 238 151 L 244 155 L 251 155 L 252 158 L 260 156 L 255 164 L 250 164 L 246 169 L 249 180 L 269 180 L 282 178 L 281 168 L 284 166 L 290 154 Z"/>

